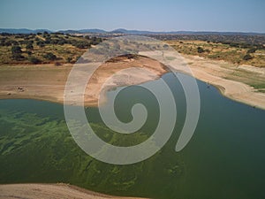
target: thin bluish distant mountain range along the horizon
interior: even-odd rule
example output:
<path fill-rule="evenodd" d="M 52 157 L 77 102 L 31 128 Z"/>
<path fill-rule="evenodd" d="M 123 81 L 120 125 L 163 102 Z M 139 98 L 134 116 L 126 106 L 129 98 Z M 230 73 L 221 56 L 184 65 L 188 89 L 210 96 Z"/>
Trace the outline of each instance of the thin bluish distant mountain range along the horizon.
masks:
<path fill-rule="evenodd" d="M 211 32 L 211 31 L 170 31 L 170 32 L 152 32 L 152 31 L 142 31 L 142 30 L 126 30 L 119 28 L 113 31 L 105 31 L 102 29 L 80 29 L 80 30 L 59 30 L 59 31 L 50 31 L 48 29 L 27 29 L 27 28 L 0 28 L 0 33 L 9 33 L 9 34 L 36 34 L 43 32 L 60 32 L 64 34 L 240 34 L 240 35 L 265 35 L 265 33 L 243 33 L 243 32 Z"/>

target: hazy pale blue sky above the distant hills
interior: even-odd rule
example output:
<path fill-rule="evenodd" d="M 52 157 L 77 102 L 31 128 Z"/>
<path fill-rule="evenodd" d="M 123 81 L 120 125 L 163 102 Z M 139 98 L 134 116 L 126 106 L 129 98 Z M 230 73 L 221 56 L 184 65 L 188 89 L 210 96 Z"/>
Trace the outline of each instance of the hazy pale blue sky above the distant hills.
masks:
<path fill-rule="evenodd" d="M 0 27 L 265 33 L 265 0 L 0 0 Z"/>

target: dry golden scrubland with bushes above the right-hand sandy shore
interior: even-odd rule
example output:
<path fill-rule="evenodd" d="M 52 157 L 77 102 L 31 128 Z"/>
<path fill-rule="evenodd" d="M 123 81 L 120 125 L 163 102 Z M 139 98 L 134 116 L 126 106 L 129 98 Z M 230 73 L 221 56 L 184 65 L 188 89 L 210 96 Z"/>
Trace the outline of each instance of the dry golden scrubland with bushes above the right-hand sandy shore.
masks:
<path fill-rule="evenodd" d="M 239 44 L 234 42 L 206 41 L 166 41 L 178 52 L 216 60 L 224 60 L 236 65 L 265 67 L 265 46 L 260 44 Z"/>

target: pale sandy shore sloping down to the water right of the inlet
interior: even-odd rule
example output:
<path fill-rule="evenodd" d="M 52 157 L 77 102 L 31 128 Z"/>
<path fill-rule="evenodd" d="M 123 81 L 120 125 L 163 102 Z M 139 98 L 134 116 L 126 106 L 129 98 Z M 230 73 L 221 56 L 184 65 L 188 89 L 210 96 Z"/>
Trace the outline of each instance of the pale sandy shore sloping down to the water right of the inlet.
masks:
<path fill-rule="evenodd" d="M 256 77 L 257 80 L 265 82 L 265 68 L 251 65 L 231 65 L 224 61 L 213 61 L 194 56 L 186 56 L 186 62 L 189 63 L 194 77 L 216 86 L 223 96 L 265 109 L 265 93 L 257 92 L 253 87 L 238 80 L 240 73 L 243 75 L 243 73 L 250 72 L 253 75 L 251 78 Z M 240 73 L 234 74 L 235 70 L 239 70 Z M 227 79 L 227 76 L 230 79 Z"/>

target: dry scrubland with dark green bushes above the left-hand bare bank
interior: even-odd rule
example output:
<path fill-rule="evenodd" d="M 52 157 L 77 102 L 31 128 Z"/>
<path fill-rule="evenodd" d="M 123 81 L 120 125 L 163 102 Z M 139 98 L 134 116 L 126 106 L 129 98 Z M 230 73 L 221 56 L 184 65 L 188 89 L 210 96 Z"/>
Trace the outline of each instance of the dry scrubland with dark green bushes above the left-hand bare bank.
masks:
<path fill-rule="evenodd" d="M 0 65 L 74 63 L 99 42 L 95 36 L 61 33 L 0 34 Z"/>

